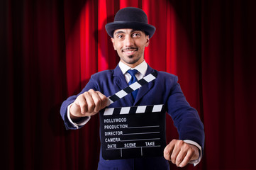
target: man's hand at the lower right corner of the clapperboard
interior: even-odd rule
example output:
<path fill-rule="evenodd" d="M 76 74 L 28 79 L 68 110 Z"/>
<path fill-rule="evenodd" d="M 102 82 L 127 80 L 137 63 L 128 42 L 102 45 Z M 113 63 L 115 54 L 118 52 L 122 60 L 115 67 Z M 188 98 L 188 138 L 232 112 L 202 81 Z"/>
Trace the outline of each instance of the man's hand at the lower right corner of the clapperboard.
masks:
<path fill-rule="evenodd" d="M 183 140 L 172 140 L 165 147 L 164 157 L 168 161 L 172 161 L 178 167 L 186 166 L 190 161 L 199 158 L 199 149 L 194 145 L 190 145 Z"/>

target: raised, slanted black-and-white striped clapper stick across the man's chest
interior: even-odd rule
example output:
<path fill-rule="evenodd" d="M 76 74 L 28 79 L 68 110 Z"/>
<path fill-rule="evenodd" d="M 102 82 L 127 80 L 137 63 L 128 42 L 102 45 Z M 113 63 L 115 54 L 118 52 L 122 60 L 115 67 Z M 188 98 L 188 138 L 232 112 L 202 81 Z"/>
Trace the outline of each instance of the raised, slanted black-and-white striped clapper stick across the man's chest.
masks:
<path fill-rule="evenodd" d="M 157 74 L 155 72 L 153 72 L 153 73 L 148 74 L 147 76 L 143 77 L 143 79 L 140 79 L 139 81 L 136 81 L 135 83 L 130 84 L 130 86 L 126 87 L 125 89 L 118 91 L 113 96 L 108 97 L 108 106 L 111 103 L 118 101 L 119 99 L 123 98 L 124 96 L 130 94 L 131 92 L 139 89 L 144 84 L 148 84 L 150 81 L 152 81 L 156 78 L 157 78 Z"/>

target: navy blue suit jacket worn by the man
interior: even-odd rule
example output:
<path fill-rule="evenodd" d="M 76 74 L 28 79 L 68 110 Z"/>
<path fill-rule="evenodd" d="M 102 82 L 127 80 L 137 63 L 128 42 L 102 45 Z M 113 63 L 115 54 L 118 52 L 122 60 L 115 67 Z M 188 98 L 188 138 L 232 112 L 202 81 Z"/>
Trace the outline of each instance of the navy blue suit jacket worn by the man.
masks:
<path fill-rule="evenodd" d="M 131 94 L 128 94 L 108 107 L 116 108 L 165 104 L 167 113 L 172 117 L 172 120 L 174 120 L 174 125 L 179 132 L 179 139 L 197 142 L 203 149 L 204 125 L 201 123 L 197 111 L 189 106 L 189 103 L 186 101 L 177 83 L 177 77 L 166 72 L 158 72 L 148 66 L 146 75 L 152 72 L 157 73 L 157 79 L 142 86 L 134 102 Z M 101 93 L 106 96 L 111 96 L 127 86 L 126 79 L 121 69 L 117 66 L 116 69 L 106 70 L 92 75 L 89 83 L 80 94 L 89 91 L 89 89 L 94 89 L 95 91 L 101 91 Z M 78 95 L 67 98 L 67 100 L 62 103 L 60 109 L 67 129 L 76 129 L 74 125 L 69 123 L 67 118 L 67 106 L 73 103 Z M 100 154 L 98 169 L 169 169 L 169 164 L 164 157 L 106 161 Z"/>

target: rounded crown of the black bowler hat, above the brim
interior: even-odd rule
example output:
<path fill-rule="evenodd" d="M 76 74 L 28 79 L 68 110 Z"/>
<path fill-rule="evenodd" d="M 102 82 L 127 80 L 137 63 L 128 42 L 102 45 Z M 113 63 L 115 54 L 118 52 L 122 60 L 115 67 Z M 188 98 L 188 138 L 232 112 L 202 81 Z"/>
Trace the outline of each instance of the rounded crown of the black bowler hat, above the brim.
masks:
<path fill-rule="evenodd" d="M 127 7 L 122 8 L 116 13 L 114 21 L 131 21 L 138 23 L 148 23 L 146 13 L 140 8 Z"/>

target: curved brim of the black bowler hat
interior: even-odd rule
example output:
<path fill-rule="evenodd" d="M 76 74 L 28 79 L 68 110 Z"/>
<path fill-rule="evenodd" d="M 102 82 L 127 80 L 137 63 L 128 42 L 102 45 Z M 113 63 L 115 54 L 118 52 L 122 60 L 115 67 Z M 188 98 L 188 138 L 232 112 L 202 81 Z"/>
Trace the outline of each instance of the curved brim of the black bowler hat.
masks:
<path fill-rule="evenodd" d="M 152 35 L 155 33 L 155 26 L 152 26 L 147 23 L 138 23 L 138 22 L 132 22 L 132 21 L 116 21 L 113 23 L 107 23 L 106 26 L 106 32 L 108 33 L 111 38 L 113 38 L 113 32 L 117 29 L 122 28 L 132 28 L 135 30 L 143 30 L 145 33 L 149 35 L 150 38 L 152 38 Z"/>

